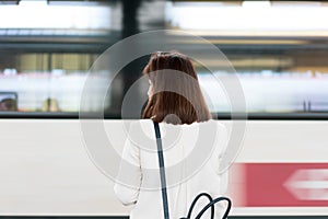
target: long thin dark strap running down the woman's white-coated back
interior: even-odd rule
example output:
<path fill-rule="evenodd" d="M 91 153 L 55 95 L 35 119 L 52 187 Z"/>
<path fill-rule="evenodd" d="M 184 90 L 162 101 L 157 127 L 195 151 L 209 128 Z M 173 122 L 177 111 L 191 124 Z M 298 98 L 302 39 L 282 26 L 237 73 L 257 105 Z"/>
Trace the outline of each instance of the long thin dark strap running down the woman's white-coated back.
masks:
<path fill-rule="evenodd" d="M 162 199 L 163 199 L 163 210 L 164 218 L 169 219 L 168 216 L 168 204 L 167 204 L 167 192 L 166 192 L 166 178 L 165 178 L 165 165 L 163 158 L 163 147 L 162 147 L 162 138 L 159 123 L 154 122 L 155 135 L 156 135 L 156 143 L 157 143 L 157 154 L 159 154 L 159 164 L 160 164 L 160 174 L 161 174 L 161 187 L 162 187 Z"/>

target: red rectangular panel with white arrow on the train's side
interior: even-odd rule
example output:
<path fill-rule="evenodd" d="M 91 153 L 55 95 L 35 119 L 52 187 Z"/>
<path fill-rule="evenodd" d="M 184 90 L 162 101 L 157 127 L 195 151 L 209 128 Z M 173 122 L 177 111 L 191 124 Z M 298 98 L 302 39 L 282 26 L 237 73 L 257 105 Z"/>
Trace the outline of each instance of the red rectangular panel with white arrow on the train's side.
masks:
<path fill-rule="evenodd" d="M 328 163 L 246 163 L 248 207 L 328 206 Z"/>

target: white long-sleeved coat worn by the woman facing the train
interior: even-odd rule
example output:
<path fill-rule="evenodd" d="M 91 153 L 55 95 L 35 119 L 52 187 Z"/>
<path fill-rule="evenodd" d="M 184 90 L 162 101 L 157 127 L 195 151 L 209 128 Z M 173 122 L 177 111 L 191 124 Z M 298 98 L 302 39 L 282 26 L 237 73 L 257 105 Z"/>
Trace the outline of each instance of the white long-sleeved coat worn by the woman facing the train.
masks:
<path fill-rule="evenodd" d="M 227 146 L 226 128 L 210 119 L 191 125 L 160 123 L 166 171 L 169 218 L 186 217 L 194 198 L 201 192 L 213 198 L 227 187 L 227 172 L 220 172 L 220 161 Z M 213 140 L 214 139 L 214 140 Z M 133 205 L 130 219 L 161 219 L 163 203 L 152 120 L 132 124 L 122 151 L 122 161 L 114 192 L 124 205 Z M 201 198 L 192 217 L 208 203 Z M 224 209 L 215 206 L 215 218 Z M 209 218 L 208 210 L 207 217 Z"/>

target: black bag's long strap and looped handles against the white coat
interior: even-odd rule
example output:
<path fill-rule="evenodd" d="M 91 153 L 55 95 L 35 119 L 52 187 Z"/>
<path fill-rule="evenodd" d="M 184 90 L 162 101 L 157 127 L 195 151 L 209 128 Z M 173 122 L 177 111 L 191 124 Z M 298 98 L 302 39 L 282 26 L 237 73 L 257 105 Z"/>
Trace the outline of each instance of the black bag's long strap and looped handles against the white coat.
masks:
<path fill-rule="evenodd" d="M 157 143 L 157 154 L 159 154 L 159 164 L 160 164 L 160 175 L 161 175 L 161 187 L 162 187 L 162 199 L 163 199 L 163 209 L 164 209 L 164 218 L 169 219 L 168 216 L 168 204 L 167 204 L 167 192 L 166 192 L 166 178 L 165 178 L 165 165 L 164 165 L 164 158 L 163 158 L 163 147 L 162 147 L 162 139 L 161 139 L 161 130 L 159 123 L 154 122 L 154 128 L 155 128 L 155 135 L 156 135 L 156 143 Z M 231 199 L 227 197 L 219 197 L 213 199 L 209 194 L 207 193 L 201 193 L 196 198 L 190 205 L 189 211 L 187 217 L 183 217 L 180 219 L 190 219 L 192 209 L 196 205 L 196 203 L 201 198 L 202 196 L 206 196 L 209 199 L 209 204 L 202 208 L 202 210 L 196 216 L 195 219 L 200 219 L 201 216 L 209 209 L 211 208 L 211 219 L 214 219 L 214 205 L 221 200 L 226 200 L 227 201 L 227 207 L 226 210 L 223 215 L 222 219 L 226 219 L 231 209 Z"/>

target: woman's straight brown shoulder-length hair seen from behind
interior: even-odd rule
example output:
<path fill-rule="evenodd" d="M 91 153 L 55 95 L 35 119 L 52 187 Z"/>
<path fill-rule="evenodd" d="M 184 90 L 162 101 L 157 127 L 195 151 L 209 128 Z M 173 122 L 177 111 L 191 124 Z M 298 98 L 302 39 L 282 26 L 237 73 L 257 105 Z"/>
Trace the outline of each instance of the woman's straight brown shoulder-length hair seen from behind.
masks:
<path fill-rule="evenodd" d="M 152 95 L 142 118 L 175 125 L 211 119 L 195 67 L 187 56 L 177 51 L 154 53 L 143 73 L 150 79 Z"/>

